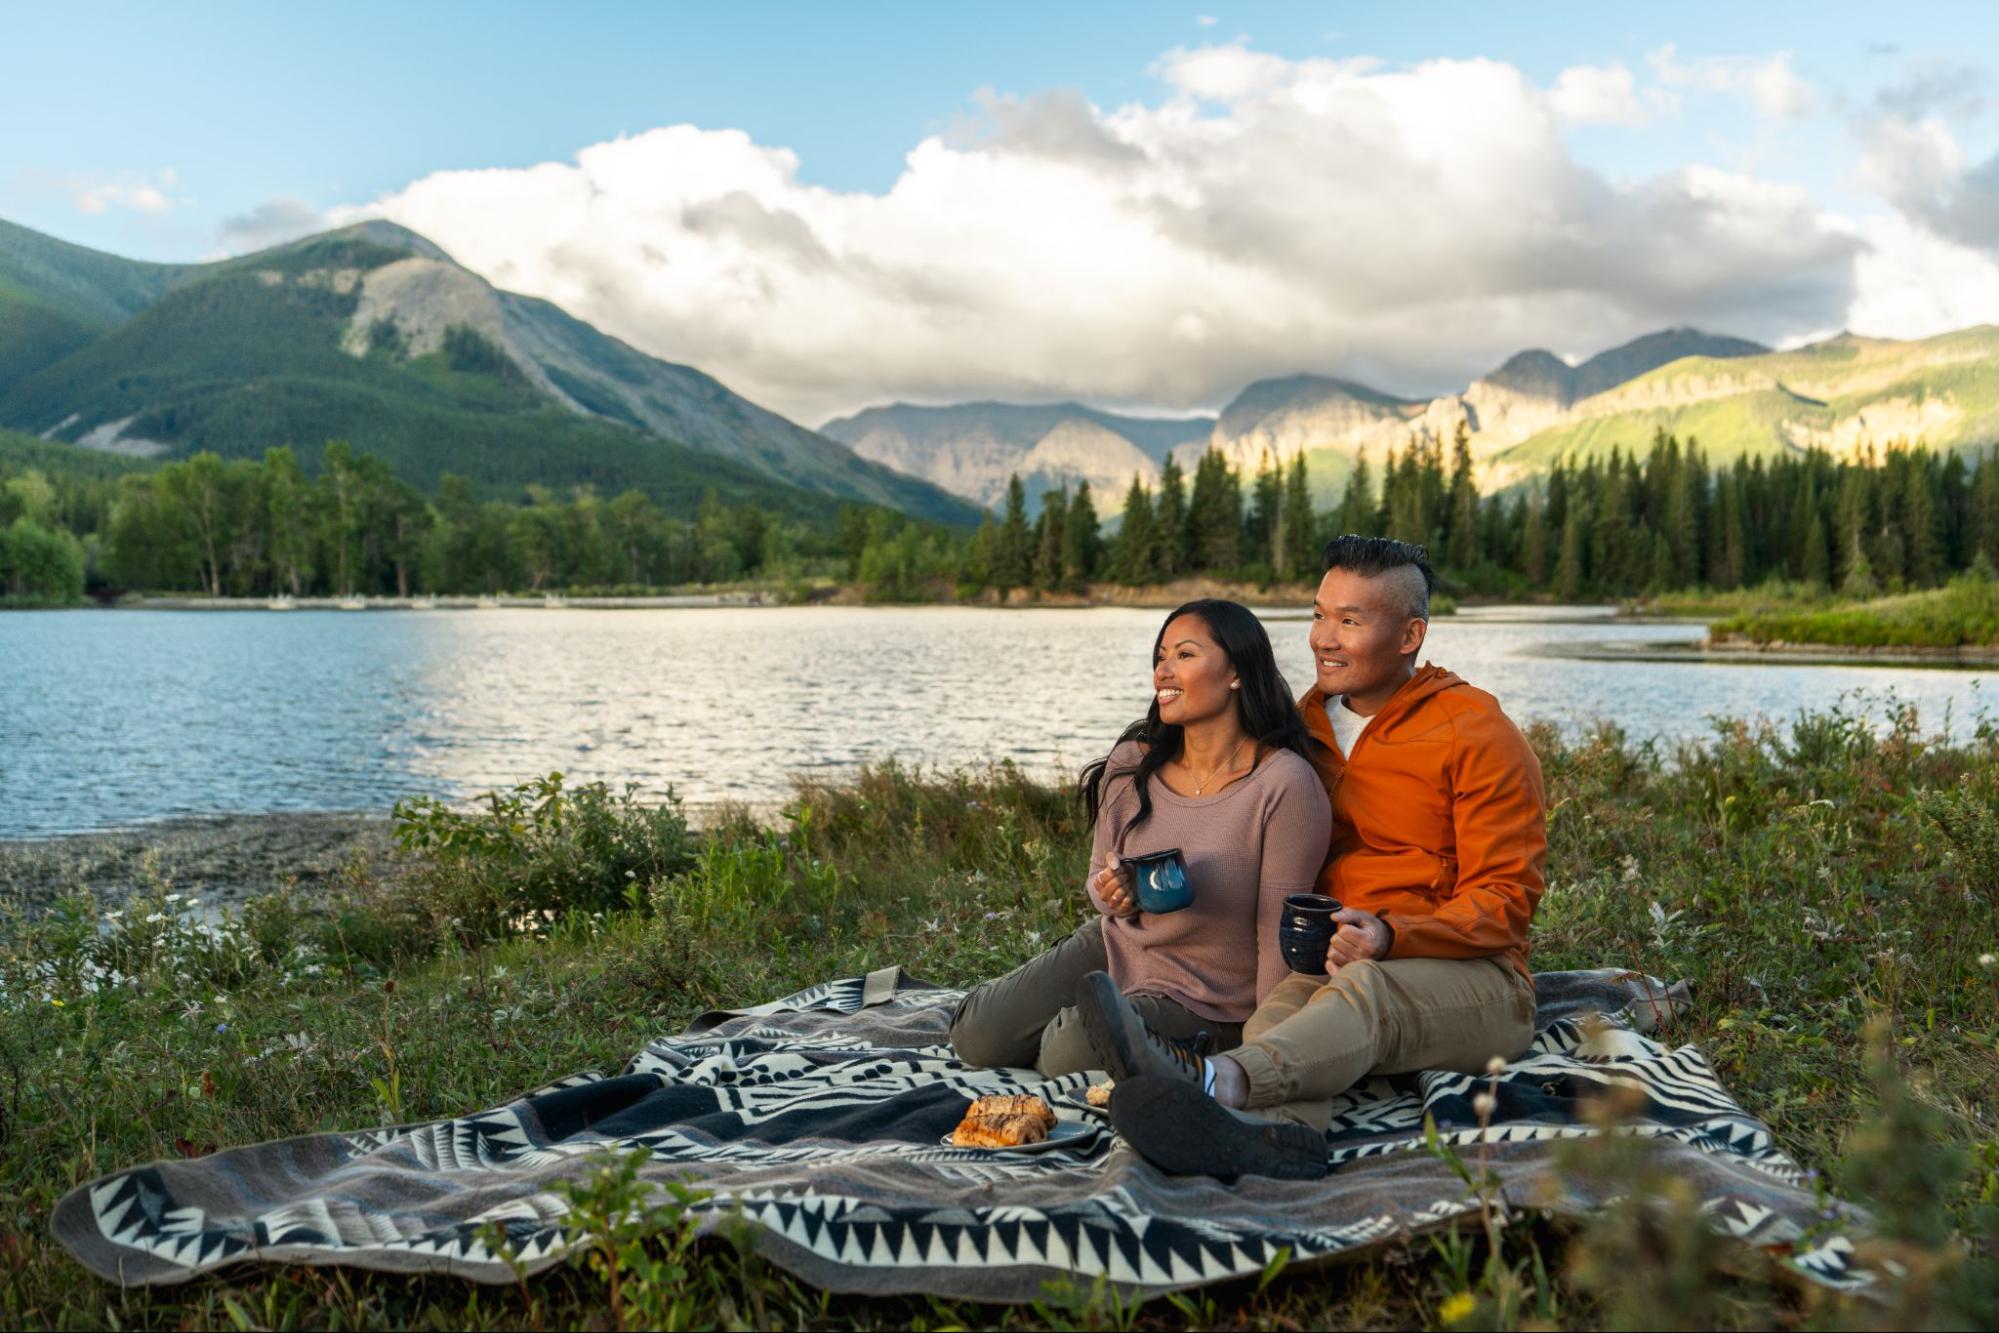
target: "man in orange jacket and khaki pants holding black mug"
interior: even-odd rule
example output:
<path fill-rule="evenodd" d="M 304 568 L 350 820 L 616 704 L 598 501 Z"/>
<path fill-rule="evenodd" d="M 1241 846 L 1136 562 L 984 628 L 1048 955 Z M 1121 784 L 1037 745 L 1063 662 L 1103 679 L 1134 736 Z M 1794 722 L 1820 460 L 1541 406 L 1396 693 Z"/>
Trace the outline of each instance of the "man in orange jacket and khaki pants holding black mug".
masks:
<path fill-rule="evenodd" d="M 1371 1073 L 1477 1073 L 1533 1037 L 1527 923 L 1541 897 L 1541 765 L 1499 703 L 1435 666 L 1419 546 L 1345 536 L 1311 608 L 1319 739 L 1337 897 L 1327 975 L 1291 975 L 1243 1043 L 1201 1059 L 1167 1041 L 1103 973 L 1077 1009 L 1117 1079 L 1111 1123 L 1183 1175 L 1325 1175 L 1331 1099 Z"/>

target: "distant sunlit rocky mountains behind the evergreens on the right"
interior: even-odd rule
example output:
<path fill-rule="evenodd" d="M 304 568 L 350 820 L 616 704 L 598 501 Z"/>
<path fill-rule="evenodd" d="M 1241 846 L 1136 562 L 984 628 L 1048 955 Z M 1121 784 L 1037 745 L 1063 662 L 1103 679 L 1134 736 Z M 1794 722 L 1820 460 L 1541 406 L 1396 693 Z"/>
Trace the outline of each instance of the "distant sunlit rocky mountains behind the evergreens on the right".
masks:
<path fill-rule="evenodd" d="M 1331 504 L 1359 458 L 1379 468 L 1411 440 L 1469 432 L 1479 482 L 1503 490 L 1557 462 L 1613 448 L 1643 452 L 1655 430 L 1697 438 L 1709 462 L 1873 444 L 1939 450 L 1999 442 L 1999 330 L 1897 342 L 1839 334 L 1789 352 L 1661 330 L 1569 364 L 1553 352 L 1507 358 L 1455 394 L 1401 398 L 1327 376 L 1257 380 L 1213 418 L 1151 420 L 1079 404 L 892 404 L 822 426 L 902 472 L 994 504 L 1017 472 L 1029 492 L 1087 480 L 1121 496 L 1219 450 L 1241 470 L 1303 454 L 1313 498 Z M 1113 502 L 1111 502 L 1113 504 Z M 1109 508 L 1099 502 L 1099 508 Z"/>

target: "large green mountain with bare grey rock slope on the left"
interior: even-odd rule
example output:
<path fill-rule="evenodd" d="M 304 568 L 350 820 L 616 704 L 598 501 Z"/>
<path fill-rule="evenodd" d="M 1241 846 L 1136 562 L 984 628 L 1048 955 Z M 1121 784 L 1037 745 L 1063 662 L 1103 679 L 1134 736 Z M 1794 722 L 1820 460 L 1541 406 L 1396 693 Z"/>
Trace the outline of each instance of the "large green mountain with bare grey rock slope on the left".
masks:
<path fill-rule="evenodd" d="M 142 264 L 0 222 L 0 428 L 94 450 L 312 460 L 342 438 L 410 482 L 706 490 L 796 512 L 978 508 L 502 292 L 416 232 L 362 222 L 214 264 Z"/>

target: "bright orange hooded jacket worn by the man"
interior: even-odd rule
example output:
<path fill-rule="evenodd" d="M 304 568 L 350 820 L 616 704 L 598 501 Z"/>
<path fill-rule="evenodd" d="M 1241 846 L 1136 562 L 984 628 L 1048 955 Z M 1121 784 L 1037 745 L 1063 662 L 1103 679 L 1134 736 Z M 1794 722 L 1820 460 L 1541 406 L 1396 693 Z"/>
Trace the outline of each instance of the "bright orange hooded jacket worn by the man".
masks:
<path fill-rule="evenodd" d="M 1527 973 L 1547 799 L 1541 763 L 1499 701 L 1425 666 L 1345 759 L 1319 687 L 1297 705 L 1333 801 L 1319 891 L 1385 919 L 1395 929 L 1389 957 L 1497 953 Z"/>

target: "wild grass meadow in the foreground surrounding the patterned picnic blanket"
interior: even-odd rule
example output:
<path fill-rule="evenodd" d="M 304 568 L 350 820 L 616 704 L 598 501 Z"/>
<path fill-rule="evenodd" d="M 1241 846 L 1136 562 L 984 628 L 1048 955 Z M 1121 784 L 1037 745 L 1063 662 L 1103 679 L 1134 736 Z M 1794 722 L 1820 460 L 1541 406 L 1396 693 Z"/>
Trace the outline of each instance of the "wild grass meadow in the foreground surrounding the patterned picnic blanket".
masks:
<path fill-rule="evenodd" d="M 1907 1281 L 1887 1305 L 1801 1289 L 1715 1241 L 1695 1201 L 1417 1241 L 1131 1309 L 812 1291 L 610 1165 L 574 1267 L 508 1289 L 236 1269 L 158 1291 L 84 1277 L 48 1239 L 98 1173 L 218 1145 L 432 1119 L 614 1069 L 708 1007 L 900 961 L 970 983 L 1081 915 L 1085 837 L 1011 767 L 800 785 L 784 815 L 696 835 L 602 787 L 402 809 L 390 879 L 196 925 L 156 883 L 72 899 L 0 945 L 0 1321 L 10 1327 L 1917 1327 L 1999 1319 L 1999 731 L 1925 739 L 1877 707 L 1723 723 L 1663 749 L 1537 733 L 1551 793 L 1541 967 L 1693 981 L 1699 1043 L 1787 1151 L 1871 1203 Z M 552 873 L 560 871 L 560 873 Z M 118 911 L 120 915 L 114 915 Z M 744 941 L 754 941 L 750 947 Z M 1471 1187 L 1475 1175 L 1467 1173 Z M 596 1263 L 592 1265 L 592 1255 Z M 616 1297 L 614 1297 L 616 1291 Z"/>

